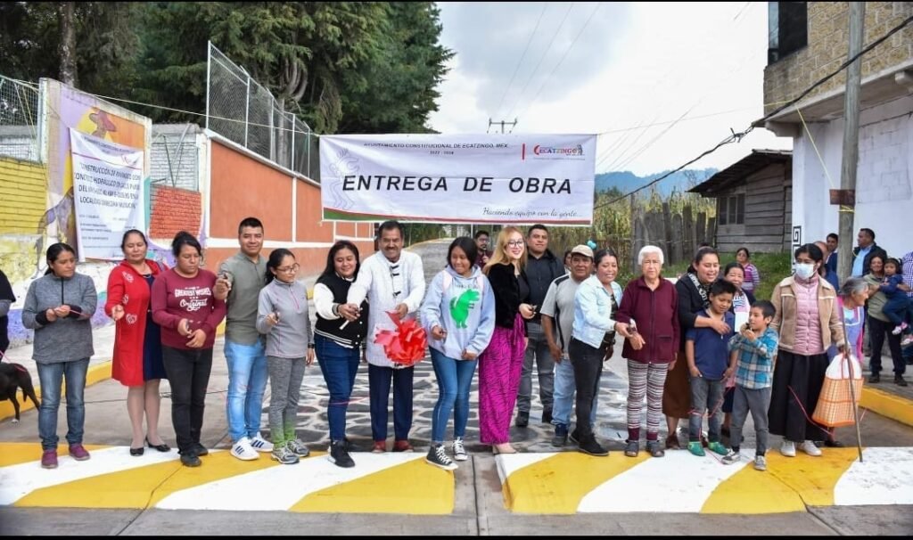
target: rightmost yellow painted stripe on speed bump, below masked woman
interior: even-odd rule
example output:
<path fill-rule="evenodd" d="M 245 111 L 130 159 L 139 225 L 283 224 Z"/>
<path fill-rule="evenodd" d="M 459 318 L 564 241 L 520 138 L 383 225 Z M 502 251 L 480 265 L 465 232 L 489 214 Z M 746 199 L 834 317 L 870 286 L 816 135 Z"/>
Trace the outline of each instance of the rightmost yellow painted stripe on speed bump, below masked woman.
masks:
<path fill-rule="evenodd" d="M 834 486 L 858 459 L 855 448 L 825 448 L 821 457 L 797 452 L 783 457 L 780 452 L 767 453 L 767 470 L 796 492 L 810 506 L 834 504 Z"/>

